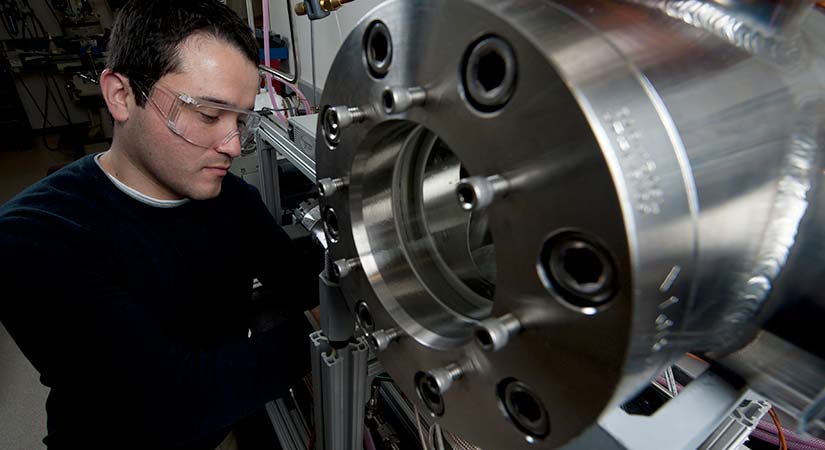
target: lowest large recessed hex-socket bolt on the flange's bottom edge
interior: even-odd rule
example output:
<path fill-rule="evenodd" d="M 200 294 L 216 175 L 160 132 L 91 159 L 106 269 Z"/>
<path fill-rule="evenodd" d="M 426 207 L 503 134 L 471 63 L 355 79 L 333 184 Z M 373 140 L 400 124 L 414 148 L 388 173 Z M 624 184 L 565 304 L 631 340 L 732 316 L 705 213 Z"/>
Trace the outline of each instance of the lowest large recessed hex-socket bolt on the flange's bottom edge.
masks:
<path fill-rule="evenodd" d="M 507 378 L 498 385 L 498 396 L 507 418 L 530 443 L 550 434 L 550 417 L 541 399 L 524 383 Z"/>

